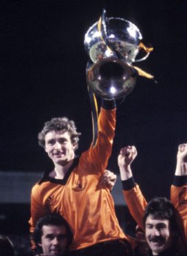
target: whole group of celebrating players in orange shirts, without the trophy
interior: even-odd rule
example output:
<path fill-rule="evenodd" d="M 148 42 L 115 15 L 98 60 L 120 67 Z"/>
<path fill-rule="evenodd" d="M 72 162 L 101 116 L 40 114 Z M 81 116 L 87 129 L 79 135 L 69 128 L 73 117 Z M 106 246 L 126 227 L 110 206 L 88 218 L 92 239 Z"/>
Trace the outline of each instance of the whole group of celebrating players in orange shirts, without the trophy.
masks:
<path fill-rule="evenodd" d="M 96 145 L 91 144 L 80 156 L 75 153 L 80 133 L 74 121 L 52 118 L 45 122 L 39 145 L 54 169 L 44 173 L 32 188 L 29 223 L 33 255 L 187 255 L 187 145 L 179 145 L 170 200 L 153 198 L 150 202 L 133 179 L 136 148 L 120 150 L 122 193 L 137 223 L 135 237 L 131 237 L 122 231 L 115 215 L 111 189 L 116 176 L 106 171 L 115 135 L 115 111 L 115 100 L 102 100 Z M 0 255 L 14 255 L 8 237 L 0 237 Z"/>

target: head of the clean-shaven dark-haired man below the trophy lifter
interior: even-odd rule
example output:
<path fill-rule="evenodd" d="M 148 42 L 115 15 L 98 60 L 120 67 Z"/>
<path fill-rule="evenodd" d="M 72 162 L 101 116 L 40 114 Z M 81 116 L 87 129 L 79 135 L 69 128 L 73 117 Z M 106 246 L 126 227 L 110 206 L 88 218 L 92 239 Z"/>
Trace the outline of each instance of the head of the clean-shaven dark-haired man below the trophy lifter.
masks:
<path fill-rule="evenodd" d="M 72 231 L 65 219 L 58 214 L 41 217 L 34 228 L 33 239 L 44 256 L 61 256 L 72 244 Z"/>

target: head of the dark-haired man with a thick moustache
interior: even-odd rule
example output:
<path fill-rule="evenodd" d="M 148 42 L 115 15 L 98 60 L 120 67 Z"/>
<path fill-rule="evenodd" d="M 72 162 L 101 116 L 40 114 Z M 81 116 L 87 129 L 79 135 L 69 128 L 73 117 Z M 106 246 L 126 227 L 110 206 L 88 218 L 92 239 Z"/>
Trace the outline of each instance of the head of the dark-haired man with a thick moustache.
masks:
<path fill-rule="evenodd" d="M 179 213 L 166 198 L 154 198 L 144 212 L 146 241 L 153 255 L 173 246 L 179 236 Z"/>

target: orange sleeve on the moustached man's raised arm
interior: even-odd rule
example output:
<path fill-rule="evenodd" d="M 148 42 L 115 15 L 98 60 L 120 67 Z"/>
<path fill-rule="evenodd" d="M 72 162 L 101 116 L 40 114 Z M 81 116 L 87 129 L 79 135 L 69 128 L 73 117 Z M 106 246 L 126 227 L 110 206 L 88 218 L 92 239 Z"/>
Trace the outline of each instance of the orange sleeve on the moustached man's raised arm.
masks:
<path fill-rule="evenodd" d="M 146 208 L 146 200 L 140 187 L 136 184 L 133 189 L 123 190 L 124 200 L 135 222 L 144 230 L 143 216 Z"/>

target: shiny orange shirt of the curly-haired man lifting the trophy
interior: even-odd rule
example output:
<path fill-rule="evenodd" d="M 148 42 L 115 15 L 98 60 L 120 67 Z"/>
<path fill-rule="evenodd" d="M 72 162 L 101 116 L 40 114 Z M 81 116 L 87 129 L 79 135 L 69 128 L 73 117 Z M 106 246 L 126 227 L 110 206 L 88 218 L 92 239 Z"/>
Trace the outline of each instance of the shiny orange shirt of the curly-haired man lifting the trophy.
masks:
<path fill-rule="evenodd" d="M 65 217 L 74 242 L 71 250 L 85 248 L 112 239 L 128 239 L 115 216 L 109 189 L 98 186 L 106 169 L 115 130 L 115 109 L 101 109 L 98 118 L 98 140 L 80 156 L 65 185 L 45 181 L 32 189 L 30 231 L 39 217 L 47 212 Z"/>

